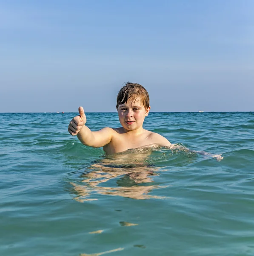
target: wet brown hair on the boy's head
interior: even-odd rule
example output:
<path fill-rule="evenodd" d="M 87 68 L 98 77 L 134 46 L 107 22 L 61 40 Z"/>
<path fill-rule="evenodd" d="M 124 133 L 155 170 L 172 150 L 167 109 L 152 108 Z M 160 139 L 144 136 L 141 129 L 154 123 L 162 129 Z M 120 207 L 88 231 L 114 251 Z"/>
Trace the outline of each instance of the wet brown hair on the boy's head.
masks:
<path fill-rule="evenodd" d="M 149 108 L 149 95 L 147 90 L 140 84 L 128 82 L 120 89 L 117 95 L 116 107 L 118 108 L 119 105 L 127 102 L 128 99 L 137 99 L 138 97 L 143 103 L 143 106 Z"/>

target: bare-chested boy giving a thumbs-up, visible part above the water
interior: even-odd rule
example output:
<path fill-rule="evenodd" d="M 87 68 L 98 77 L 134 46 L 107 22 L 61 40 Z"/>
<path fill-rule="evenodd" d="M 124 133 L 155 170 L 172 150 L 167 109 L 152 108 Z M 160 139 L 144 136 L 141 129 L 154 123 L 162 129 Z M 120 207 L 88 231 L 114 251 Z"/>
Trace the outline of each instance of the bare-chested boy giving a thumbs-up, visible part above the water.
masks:
<path fill-rule="evenodd" d="M 91 131 L 86 124 L 84 109 L 79 107 L 79 116 L 75 116 L 68 132 L 77 135 L 84 145 L 100 148 L 106 154 L 126 151 L 130 148 L 146 146 L 169 146 L 171 143 L 160 134 L 147 131 L 143 122 L 150 111 L 149 95 L 146 89 L 136 83 L 126 83 L 117 95 L 117 112 L 120 128 L 103 128 L 100 131 Z"/>

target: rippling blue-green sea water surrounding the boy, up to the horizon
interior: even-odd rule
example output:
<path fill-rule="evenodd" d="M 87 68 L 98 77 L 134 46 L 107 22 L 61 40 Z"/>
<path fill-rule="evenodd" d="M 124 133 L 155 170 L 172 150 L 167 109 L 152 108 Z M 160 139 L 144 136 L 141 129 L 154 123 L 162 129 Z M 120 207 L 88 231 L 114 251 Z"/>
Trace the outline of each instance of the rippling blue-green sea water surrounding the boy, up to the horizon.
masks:
<path fill-rule="evenodd" d="M 1 256 L 254 255 L 254 113 L 150 113 L 174 147 L 110 156 L 75 115 L 0 114 Z"/>

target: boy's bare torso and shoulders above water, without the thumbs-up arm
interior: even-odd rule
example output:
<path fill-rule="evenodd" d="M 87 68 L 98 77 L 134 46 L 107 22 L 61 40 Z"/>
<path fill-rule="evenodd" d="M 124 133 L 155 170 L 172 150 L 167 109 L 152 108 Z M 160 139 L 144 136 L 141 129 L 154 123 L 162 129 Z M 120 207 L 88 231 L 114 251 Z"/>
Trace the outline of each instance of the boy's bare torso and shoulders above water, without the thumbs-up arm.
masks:
<path fill-rule="evenodd" d="M 115 154 L 131 148 L 148 146 L 168 146 L 171 143 L 160 134 L 143 129 L 140 134 L 126 133 L 123 127 L 111 129 L 111 141 L 103 146 L 106 154 Z"/>

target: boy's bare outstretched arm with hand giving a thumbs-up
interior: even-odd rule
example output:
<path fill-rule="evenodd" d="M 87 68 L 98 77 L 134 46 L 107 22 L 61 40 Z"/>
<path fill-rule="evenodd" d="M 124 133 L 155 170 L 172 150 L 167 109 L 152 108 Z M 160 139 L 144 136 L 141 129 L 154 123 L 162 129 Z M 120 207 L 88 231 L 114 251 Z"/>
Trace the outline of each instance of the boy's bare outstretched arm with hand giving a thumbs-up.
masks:
<path fill-rule="evenodd" d="M 75 116 L 69 126 L 68 132 L 71 135 L 77 135 L 78 139 L 84 145 L 100 148 L 111 141 L 113 129 L 103 128 L 100 131 L 91 131 L 86 124 L 86 115 L 84 109 L 79 107 L 79 116 Z"/>

